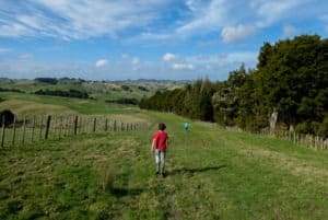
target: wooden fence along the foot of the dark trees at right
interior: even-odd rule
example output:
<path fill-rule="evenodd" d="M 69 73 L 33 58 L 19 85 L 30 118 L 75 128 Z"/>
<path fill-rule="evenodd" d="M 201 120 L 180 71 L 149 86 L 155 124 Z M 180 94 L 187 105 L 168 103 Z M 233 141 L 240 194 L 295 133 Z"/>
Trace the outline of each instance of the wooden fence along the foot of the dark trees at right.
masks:
<path fill-rule="evenodd" d="M 234 128 L 234 127 L 225 127 L 225 129 L 244 131 L 239 128 Z M 246 131 L 246 132 L 248 132 L 248 131 Z M 305 146 L 307 148 L 315 149 L 315 150 L 327 150 L 328 149 L 328 139 L 319 137 L 319 136 L 296 134 L 296 132 L 288 131 L 288 130 L 270 131 L 269 129 L 262 129 L 259 132 L 251 132 L 251 134 L 255 134 L 258 136 L 263 136 L 263 137 L 280 138 L 280 139 L 296 143 L 298 146 Z"/>

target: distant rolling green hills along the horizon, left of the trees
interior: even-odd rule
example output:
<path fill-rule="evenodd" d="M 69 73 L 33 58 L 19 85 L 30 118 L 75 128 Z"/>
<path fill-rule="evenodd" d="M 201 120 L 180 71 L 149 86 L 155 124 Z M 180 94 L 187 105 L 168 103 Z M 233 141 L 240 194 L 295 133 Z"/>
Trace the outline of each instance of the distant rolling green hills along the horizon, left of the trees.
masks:
<path fill-rule="evenodd" d="M 150 97 L 156 91 L 174 90 L 184 86 L 191 81 L 173 80 L 122 80 L 122 81 L 92 81 L 74 78 L 36 78 L 9 79 L 0 78 L 0 92 L 21 92 L 47 95 L 70 94 L 70 91 L 87 94 L 87 97 L 101 101 L 121 101 L 132 99 L 140 101 Z M 40 92 L 43 91 L 43 92 Z"/>

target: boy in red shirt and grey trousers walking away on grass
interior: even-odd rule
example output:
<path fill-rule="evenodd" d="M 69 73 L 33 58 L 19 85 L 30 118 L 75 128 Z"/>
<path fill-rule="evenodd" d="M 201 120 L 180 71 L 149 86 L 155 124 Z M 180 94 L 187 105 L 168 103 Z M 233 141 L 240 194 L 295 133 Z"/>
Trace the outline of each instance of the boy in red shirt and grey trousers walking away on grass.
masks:
<path fill-rule="evenodd" d="M 159 125 L 159 130 L 153 135 L 153 142 L 151 150 L 155 152 L 155 162 L 156 162 L 156 174 L 165 176 L 165 151 L 168 146 L 168 135 L 165 132 L 166 126 L 161 123 Z"/>

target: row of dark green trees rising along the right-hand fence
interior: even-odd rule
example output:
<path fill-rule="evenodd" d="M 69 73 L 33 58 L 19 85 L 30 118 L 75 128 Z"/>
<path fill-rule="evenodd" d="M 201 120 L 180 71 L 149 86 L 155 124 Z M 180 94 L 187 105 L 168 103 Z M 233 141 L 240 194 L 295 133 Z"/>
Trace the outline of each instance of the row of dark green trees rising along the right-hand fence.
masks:
<path fill-rule="evenodd" d="M 139 106 L 250 131 L 270 127 L 276 115 L 276 128 L 328 137 L 328 39 L 265 43 L 255 69 L 242 65 L 225 81 L 156 92 Z"/>

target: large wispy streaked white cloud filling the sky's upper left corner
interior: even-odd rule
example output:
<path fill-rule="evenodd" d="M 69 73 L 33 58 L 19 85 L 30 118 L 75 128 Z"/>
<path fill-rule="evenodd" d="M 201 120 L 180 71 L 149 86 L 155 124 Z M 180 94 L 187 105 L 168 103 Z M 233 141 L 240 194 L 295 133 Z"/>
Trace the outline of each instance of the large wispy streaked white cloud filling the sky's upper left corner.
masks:
<path fill-rule="evenodd" d="M 4 9 L 0 16 L 0 36 L 115 37 L 125 30 L 152 24 L 165 3 L 164 0 L 4 1 L 0 4 Z"/>

